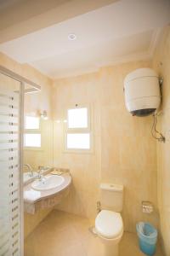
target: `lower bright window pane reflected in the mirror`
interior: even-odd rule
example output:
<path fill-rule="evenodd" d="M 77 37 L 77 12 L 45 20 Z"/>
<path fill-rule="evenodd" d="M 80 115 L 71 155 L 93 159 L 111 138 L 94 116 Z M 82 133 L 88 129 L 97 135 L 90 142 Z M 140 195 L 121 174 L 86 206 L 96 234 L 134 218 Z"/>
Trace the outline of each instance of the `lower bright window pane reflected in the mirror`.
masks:
<path fill-rule="evenodd" d="M 25 143 L 25 147 L 40 148 L 41 147 L 41 134 L 40 133 L 26 133 L 24 143 Z"/>

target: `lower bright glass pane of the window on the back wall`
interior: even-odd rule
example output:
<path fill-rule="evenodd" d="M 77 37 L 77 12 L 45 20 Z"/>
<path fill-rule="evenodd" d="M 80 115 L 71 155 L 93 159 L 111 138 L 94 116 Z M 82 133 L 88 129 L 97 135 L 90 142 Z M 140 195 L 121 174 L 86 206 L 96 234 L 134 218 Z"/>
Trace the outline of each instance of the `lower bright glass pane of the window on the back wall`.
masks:
<path fill-rule="evenodd" d="M 68 149 L 89 149 L 90 134 L 89 133 L 67 133 Z"/>

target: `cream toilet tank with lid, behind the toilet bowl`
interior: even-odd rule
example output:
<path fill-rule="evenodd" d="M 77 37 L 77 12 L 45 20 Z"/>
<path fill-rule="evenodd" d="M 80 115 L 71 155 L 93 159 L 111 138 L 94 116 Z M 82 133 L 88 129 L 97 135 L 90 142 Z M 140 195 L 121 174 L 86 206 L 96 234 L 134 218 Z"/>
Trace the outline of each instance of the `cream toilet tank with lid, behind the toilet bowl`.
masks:
<path fill-rule="evenodd" d="M 100 201 L 102 209 L 122 212 L 123 185 L 101 183 Z"/>

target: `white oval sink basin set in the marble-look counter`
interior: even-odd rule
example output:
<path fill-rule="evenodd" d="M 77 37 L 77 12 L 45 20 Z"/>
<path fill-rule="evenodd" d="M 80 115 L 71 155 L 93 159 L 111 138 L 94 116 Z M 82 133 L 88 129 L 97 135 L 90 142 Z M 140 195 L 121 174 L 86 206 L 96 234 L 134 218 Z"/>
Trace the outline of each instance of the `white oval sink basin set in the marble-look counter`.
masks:
<path fill-rule="evenodd" d="M 48 189 L 56 189 L 62 183 L 64 183 L 65 179 L 62 176 L 57 175 L 49 175 L 42 177 L 42 180 L 35 180 L 31 183 L 31 188 L 35 190 L 48 190 Z"/>

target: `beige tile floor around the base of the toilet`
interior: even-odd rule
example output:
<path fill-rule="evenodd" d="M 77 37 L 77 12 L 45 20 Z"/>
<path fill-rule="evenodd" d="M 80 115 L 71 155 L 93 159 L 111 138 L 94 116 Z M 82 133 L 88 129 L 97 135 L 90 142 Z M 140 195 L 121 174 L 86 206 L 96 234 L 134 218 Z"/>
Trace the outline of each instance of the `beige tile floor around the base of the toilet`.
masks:
<path fill-rule="evenodd" d="M 25 256 L 102 256 L 102 246 L 88 228 L 87 218 L 54 210 L 26 238 Z M 125 232 L 120 256 L 144 256 L 135 234 Z M 156 256 L 162 256 L 157 247 Z"/>

